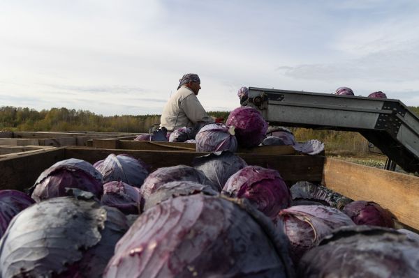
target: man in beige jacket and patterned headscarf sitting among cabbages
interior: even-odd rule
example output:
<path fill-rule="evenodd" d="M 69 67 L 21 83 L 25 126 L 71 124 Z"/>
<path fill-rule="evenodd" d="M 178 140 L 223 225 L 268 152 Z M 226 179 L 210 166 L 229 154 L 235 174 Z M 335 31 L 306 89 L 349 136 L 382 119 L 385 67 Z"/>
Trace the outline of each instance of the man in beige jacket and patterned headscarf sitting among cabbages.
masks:
<path fill-rule="evenodd" d="M 214 118 L 207 115 L 196 95 L 200 90 L 200 79 L 194 73 L 188 73 L 179 79 L 177 92 L 163 108 L 160 128 L 168 132 L 178 128 L 192 128 L 196 123 L 214 123 Z"/>

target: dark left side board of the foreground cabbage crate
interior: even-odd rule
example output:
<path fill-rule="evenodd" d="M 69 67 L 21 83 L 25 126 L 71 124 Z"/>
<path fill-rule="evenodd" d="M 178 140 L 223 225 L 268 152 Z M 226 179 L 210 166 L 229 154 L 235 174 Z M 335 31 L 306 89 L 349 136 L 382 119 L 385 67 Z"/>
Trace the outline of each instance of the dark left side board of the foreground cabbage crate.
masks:
<path fill-rule="evenodd" d="M 64 160 L 64 148 L 38 150 L 37 153 L 0 158 L 0 190 L 20 190 L 34 185 L 38 176 L 59 160 Z"/>

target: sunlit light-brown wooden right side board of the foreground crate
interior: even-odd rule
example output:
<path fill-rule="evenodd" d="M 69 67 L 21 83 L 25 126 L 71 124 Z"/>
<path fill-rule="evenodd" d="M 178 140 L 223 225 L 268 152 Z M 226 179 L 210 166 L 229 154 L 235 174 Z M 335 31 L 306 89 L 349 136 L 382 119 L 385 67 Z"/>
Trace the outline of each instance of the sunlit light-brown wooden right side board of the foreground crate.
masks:
<path fill-rule="evenodd" d="M 419 177 L 328 158 L 323 184 L 353 200 L 375 201 L 419 230 Z"/>

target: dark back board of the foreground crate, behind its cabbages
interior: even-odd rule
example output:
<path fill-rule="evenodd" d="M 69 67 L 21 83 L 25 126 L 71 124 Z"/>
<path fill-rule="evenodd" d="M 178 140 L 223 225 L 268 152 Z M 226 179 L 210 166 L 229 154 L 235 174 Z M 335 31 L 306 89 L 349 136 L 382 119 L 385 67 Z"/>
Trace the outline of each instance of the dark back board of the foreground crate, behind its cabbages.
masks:
<path fill-rule="evenodd" d="M 158 151 L 158 150 L 110 150 L 99 148 L 66 148 L 66 158 L 79 158 L 90 163 L 103 160 L 110 153 L 126 153 L 138 157 L 151 165 L 152 170 L 178 164 L 191 165 L 194 157 L 207 153 L 189 151 Z M 323 156 L 309 155 L 259 155 L 253 153 L 239 154 L 249 165 L 277 169 L 288 185 L 299 180 L 320 183 L 323 173 Z"/>

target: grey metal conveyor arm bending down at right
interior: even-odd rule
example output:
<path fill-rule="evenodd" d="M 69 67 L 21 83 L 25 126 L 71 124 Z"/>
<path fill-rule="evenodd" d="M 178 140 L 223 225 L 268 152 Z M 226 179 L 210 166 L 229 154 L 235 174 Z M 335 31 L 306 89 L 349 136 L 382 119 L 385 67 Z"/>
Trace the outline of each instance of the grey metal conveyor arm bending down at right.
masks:
<path fill-rule="evenodd" d="M 249 87 L 272 125 L 360 132 L 402 169 L 419 172 L 419 118 L 400 100 Z"/>

